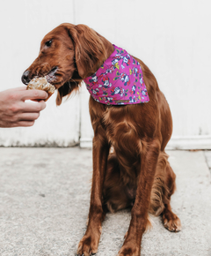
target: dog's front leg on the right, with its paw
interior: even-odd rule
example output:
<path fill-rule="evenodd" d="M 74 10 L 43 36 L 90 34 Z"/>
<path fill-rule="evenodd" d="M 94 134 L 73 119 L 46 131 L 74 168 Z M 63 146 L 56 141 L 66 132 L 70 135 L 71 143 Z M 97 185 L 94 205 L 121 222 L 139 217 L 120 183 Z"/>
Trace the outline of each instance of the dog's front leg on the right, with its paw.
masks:
<path fill-rule="evenodd" d="M 146 230 L 149 219 L 148 210 L 150 193 L 156 172 L 160 143 L 154 140 L 142 148 L 141 171 L 138 178 L 135 205 L 131 211 L 131 222 L 125 242 L 118 256 L 140 256 L 142 234 Z"/>

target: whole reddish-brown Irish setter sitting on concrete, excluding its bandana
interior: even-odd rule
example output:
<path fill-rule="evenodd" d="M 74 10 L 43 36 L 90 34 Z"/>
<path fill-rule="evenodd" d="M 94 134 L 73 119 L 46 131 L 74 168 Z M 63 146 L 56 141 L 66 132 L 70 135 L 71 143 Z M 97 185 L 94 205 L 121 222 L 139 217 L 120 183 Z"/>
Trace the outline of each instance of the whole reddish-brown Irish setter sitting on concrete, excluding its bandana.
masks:
<path fill-rule="evenodd" d="M 39 56 L 24 72 L 27 84 L 33 77 L 46 76 L 62 97 L 76 91 L 113 53 L 113 44 L 89 26 L 62 24 L 41 41 Z M 171 111 L 156 78 L 142 61 L 149 102 L 123 106 L 105 105 L 90 97 L 93 138 L 93 174 L 87 230 L 77 255 L 98 251 L 106 211 L 132 207 L 131 222 L 119 256 L 138 256 L 149 214 L 162 215 L 164 227 L 181 230 L 171 211 L 175 174 L 165 154 L 172 132 Z"/>

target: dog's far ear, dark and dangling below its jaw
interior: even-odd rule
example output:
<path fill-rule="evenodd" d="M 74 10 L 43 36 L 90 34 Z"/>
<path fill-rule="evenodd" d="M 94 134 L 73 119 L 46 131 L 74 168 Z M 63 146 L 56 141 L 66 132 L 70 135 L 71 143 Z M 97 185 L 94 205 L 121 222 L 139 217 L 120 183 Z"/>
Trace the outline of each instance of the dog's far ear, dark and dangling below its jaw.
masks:
<path fill-rule="evenodd" d="M 78 76 L 78 73 L 75 71 L 73 73 L 72 79 L 70 79 L 68 82 L 66 82 L 62 87 L 59 87 L 57 90 L 57 96 L 56 96 L 56 105 L 59 106 L 62 103 L 62 98 L 64 96 L 68 97 L 70 94 L 72 94 L 74 91 L 76 92 L 79 89 L 79 86 L 81 85 L 82 79 Z"/>

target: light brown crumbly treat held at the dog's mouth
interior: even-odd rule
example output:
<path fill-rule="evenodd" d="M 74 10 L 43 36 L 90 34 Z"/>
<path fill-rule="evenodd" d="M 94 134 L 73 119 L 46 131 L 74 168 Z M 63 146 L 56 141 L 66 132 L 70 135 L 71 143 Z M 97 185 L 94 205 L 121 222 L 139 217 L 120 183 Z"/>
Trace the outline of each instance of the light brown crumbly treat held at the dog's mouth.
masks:
<path fill-rule="evenodd" d="M 46 100 L 44 100 L 44 102 L 47 102 L 50 96 L 55 93 L 55 87 L 50 83 L 48 83 L 46 78 L 32 79 L 27 85 L 27 90 L 33 90 L 33 89 L 43 90 L 47 92 L 48 97 Z"/>

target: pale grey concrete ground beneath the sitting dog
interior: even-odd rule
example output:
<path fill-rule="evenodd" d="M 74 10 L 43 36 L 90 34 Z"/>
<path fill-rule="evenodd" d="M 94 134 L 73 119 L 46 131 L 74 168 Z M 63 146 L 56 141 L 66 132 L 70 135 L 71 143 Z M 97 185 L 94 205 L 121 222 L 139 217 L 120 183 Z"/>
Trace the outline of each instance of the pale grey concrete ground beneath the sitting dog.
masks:
<path fill-rule="evenodd" d="M 169 151 L 177 174 L 171 206 L 179 233 L 152 217 L 142 256 L 211 256 L 211 152 Z M 0 255 L 69 256 L 86 230 L 91 188 L 91 150 L 0 148 Z M 115 256 L 130 212 L 106 215 L 98 256 Z"/>

